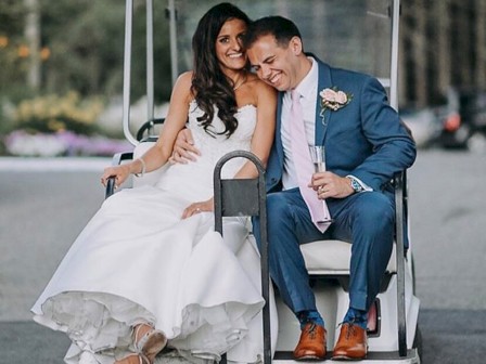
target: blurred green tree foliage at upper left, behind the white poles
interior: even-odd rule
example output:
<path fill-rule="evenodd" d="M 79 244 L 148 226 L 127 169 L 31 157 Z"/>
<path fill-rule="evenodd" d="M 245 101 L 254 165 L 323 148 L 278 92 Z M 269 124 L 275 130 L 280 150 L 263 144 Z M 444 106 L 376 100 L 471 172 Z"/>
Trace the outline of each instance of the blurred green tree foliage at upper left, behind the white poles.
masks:
<path fill-rule="evenodd" d="M 113 96 L 123 90 L 125 1 L 119 0 L 38 0 L 40 5 L 41 93 Z M 145 1 L 135 2 L 132 36 L 131 99 L 145 94 Z M 28 56 L 18 48 L 26 44 L 26 10 L 22 1 L 0 1 L 0 96 L 26 89 Z M 1 43 L 1 42 L 0 42 Z M 168 20 L 165 6 L 154 2 L 155 98 L 170 95 Z"/>

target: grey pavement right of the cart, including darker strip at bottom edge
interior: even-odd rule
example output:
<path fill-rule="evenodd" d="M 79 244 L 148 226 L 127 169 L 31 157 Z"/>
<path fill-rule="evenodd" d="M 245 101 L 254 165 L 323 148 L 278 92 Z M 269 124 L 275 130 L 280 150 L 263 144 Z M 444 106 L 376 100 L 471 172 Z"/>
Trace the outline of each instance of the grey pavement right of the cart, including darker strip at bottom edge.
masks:
<path fill-rule="evenodd" d="M 425 364 L 486 363 L 486 156 L 419 153 L 409 173 Z"/>

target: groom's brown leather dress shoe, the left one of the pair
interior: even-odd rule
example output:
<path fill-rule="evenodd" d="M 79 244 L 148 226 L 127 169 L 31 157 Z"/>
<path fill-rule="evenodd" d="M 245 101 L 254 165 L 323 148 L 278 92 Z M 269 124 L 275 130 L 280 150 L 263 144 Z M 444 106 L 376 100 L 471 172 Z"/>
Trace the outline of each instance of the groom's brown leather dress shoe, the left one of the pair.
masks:
<path fill-rule="evenodd" d="M 325 328 L 315 323 L 304 326 L 294 350 L 295 360 L 324 360 L 325 356 Z"/>

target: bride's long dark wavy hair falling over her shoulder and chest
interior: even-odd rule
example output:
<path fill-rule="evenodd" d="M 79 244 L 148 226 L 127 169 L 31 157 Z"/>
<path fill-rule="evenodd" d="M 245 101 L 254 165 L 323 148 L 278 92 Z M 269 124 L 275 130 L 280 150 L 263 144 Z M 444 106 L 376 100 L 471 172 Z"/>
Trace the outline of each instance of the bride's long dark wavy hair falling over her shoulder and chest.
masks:
<path fill-rule="evenodd" d="M 226 128 L 220 134 L 230 136 L 238 127 L 234 117 L 238 112 L 234 86 L 222 73 L 216 57 L 216 39 L 219 31 L 226 22 L 234 18 L 243 21 L 246 25 L 251 23 L 248 16 L 233 4 L 228 2 L 217 4 L 201 18 L 192 37 L 194 72 L 191 90 L 197 105 L 204 112 L 197 120 L 209 134 L 213 132 L 207 128 L 215 115 L 215 105 L 218 108 L 218 117 Z"/>

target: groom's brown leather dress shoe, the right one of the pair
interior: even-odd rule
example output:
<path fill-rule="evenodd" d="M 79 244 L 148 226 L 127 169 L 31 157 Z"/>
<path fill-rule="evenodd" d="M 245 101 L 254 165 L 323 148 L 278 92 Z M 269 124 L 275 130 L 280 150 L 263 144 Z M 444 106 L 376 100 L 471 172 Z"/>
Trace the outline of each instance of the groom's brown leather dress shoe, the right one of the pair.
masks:
<path fill-rule="evenodd" d="M 367 356 L 367 330 L 358 325 L 344 323 L 332 360 L 361 360 Z"/>

